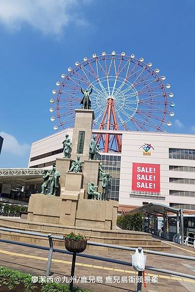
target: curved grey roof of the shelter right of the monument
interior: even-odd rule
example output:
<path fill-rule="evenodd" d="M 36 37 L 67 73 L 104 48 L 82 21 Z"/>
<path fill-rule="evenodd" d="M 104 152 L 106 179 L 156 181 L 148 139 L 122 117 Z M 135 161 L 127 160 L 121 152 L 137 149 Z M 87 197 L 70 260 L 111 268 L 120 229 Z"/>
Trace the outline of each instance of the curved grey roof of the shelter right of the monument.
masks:
<path fill-rule="evenodd" d="M 144 215 L 154 215 L 154 216 L 156 214 L 164 215 L 164 213 L 169 213 L 169 212 L 177 214 L 177 212 L 179 212 L 179 209 L 177 208 L 172 208 L 167 205 L 158 204 L 158 203 L 145 204 L 136 210 L 141 211 L 142 214 Z M 135 210 L 132 210 L 130 212 L 133 212 L 133 211 Z"/>

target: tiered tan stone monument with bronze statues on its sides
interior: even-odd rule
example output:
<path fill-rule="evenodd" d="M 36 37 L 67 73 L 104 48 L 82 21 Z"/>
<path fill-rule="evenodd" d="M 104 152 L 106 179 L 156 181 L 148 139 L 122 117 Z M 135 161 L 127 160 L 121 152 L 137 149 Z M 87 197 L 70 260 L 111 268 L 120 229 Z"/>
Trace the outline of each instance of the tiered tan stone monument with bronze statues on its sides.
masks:
<path fill-rule="evenodd" d="M 31 195 L 28 220 L 72 227 L 116 229 L 119 203 L 107 201 L 111 182 L 109 174 L 97 160 L 99 145 L 92 138 L 94 111 L 84 107 L 75 112 L 72 143 L 68 135 L 63 141 L 66 157 L 56 159 L 49 182 L 48 172 L 45 172 L 47 180 L 43 177 L 42 193 Z M 92 154 L 91 159 L 89 154 Z M 97 190 L 98 187 L 100 190 Z"/>

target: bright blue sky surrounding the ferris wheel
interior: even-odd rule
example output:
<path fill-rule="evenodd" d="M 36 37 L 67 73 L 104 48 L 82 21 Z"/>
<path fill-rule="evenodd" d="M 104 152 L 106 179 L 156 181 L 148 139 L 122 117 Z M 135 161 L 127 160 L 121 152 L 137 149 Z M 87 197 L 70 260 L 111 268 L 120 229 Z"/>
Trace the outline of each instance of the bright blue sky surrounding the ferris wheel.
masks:
<path fill-rule="evenodd" d="M 54 132 L 55 82 L 84 56 L 113 50 L 160 68 L 174 92 L 172 132 L 195 133 L 194 0 L 0 0 L 0 168 L 25 167 Z"/>

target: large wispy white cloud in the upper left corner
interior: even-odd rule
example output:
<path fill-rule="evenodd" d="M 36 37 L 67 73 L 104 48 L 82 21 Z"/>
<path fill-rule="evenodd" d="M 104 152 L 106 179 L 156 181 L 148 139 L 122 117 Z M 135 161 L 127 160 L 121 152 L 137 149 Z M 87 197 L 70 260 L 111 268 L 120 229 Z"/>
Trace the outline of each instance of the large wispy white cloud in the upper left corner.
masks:
<path fill-rule="evenodd" d="M 91 0 L 0 0 L 0 22 L 10 31 L 29 24 L 43 34 L 62 34 L 70 23 L 86 26 L 80 13 Z"/>

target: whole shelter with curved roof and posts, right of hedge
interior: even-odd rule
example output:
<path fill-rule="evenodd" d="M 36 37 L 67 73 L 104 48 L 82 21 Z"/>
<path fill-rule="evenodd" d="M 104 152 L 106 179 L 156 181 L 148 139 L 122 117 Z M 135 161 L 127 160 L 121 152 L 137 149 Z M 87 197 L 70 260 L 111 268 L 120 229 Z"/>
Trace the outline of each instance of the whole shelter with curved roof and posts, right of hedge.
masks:
<path fill-rule="evenodd" d="M 142 207 L 137 208 L 143 214 L 143 222 L 148 218 L 148 226 L 145 226 L 144 231 L 151 230 L 151 218 L 153 219 L 153 229 L 154 235 L 158 234 L 158 215 L 163 216 L 163 231 L 160 235 L 162 238 L 167 239 L 167 229 L 168 229 L 168 213 L 173 213 L 177 215 L 177 236 L 176 242 L 179 243 L 179 224 L 181 232 L 181 244 L 184 244 L 184 230 L 183 230 L 183 209 L 172 208 L 167 205 L 158 203 L 144 204 Z M 133 212 L 132 210 L 130 212 Z"/>

